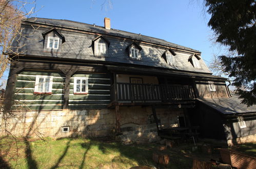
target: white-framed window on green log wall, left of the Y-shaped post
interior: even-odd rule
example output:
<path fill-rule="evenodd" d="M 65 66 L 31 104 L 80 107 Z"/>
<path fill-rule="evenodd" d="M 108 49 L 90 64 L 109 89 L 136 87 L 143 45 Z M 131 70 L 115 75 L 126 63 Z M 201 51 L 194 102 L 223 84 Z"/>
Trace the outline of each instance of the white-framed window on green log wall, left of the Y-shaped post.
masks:
<path fill-rule="evenodd" d="M 52 76 L 36 76 L 34 93 L 51 94 L 52 91 Z"/>

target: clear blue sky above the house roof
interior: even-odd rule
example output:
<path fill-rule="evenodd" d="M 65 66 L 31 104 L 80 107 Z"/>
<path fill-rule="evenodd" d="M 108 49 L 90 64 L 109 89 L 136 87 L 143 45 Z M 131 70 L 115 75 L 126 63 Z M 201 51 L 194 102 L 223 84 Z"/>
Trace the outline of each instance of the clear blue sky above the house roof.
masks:
<path fill-rule="evenodd" d="M 111 28 L 165 39 L 202 52 L 209 64 L 213 53 L 212 31 L 207 26 L 210 16 L 203 0 L 37 0 L 33 16 L 68 19 L 104 26 L 104 17 L 111 19 Z M 111 2 L 111 8 L 109 3 Z M 194 2 L 194 3 L 192 3 Z M 105 3 L 105 5 L 103 5 Z M 103 5 L 103 6 L 102 6 Z M 31 6 L 27 6 L 27 9 Z M 5 77 L 8 73 L 5 73 Z"/>

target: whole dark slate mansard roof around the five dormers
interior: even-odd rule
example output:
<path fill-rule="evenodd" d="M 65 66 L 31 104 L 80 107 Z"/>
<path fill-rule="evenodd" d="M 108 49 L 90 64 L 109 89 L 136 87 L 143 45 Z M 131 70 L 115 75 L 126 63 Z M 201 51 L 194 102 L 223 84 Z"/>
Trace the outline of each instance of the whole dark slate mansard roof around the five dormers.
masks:
<path fill-rule="evenodd" d="M 165 40 L 157 39 L 149 36 L 140 36 L 139 34 L 120 31 L 120 30 L 107 30 L 104 27 L 93 26 L 84 23 L 72 22 L 70 20 L 59 20 L 59 19 L 46 19 L 46 18 L 36 18 L 36 20 L 26 19 L 25 21 L 38 24 L 48 24 L 49 29 L 56 28 L 63 36 L 65 36 L 65 43 L 58 52 L 44 51 L 44 38 L 42 33 L 47 31 L 47 28 L 32 29 L 32 27 L 25 27 L 24 32 L 27 38 L 21 38 L 14 41 L 13 46 L 20 46 L 19 50 L 24 55 L 37 56 L 37 57 L 55 57 L 61 59 L 77 59 L 83 61 L 97 61 L 101 64 L 104 62 L 113 62 L 114 64 L 126 64 L 126 65 L 136 65 L 136 66 L 149 66 L 153 68 L 165 68 L 169 70 L 176 71 L 188 71 L 197 72 L 202 74 L 212 74 L 208 67 L 206 66 L 203 59 L 200 59 L 201 68 L 194 68 L 189 62 L 189 57 L 194 54 L 196 50 L 186 48 L 183 46 L 168 43 Z M 30 24 L 25 23 L 25 24 Z M 58 27 L 66 27 L 68 29 L 78 29 L 84 31 L 95 32 L 98 35 L 86 34 L 86 33 L 73 33 L 66 30 L 61 30 Z M 108 48 L 108 54 L 105 56 L 94 56 L 92 49 L 92 40 L 102 34 L 111 44 Z M 126 39 L 115 38 L 105 36 L 106 34 L 115 35 L 119 37 L 129 37 Z M 147 45 L 145 43 L 138 43 L 141 50 L 141 58 L 133 59 L 129 57 L 126 48 L 131 45 L 137 39 L 139 41 L 149 41 L 151 43 L 160 44 L 163 47 L 157 47 L 152 45 Z M 15 44 L 16 43 L 16 44 Z M 188 52 L 181 52 L 179 50 L 173 50 L 175 52 L 175 65 L 168 65 L 166 60 L 162 57 L 163 53 L 170 47 L 181 48 L 189 50 Z"/>

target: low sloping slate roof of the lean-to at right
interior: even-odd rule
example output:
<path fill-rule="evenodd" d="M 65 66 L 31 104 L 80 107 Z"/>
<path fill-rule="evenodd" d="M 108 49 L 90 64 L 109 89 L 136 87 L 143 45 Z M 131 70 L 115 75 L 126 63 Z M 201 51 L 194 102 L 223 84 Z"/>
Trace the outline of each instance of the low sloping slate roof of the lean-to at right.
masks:
<path fill-rule="evenodd" d="M 224 115 L 256 112 L 256 105 L 247 107 L 246 104 L 241 104 L 242 99 L 237 95 L 232 95 L 231 98 L 200 98 L 198 100 Z"/>

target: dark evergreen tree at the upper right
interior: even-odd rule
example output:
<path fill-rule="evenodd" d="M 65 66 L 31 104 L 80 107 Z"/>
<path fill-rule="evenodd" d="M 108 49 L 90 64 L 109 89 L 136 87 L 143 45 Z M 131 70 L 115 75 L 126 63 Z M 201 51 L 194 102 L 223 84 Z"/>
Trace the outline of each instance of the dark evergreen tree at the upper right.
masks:
<path fill-rule="evenodd" d="M 216 42 L 229 47 L 234 56 L 220 56 L 226 72 L 230 72 L 242 103 L 256 104 L 256 1 L 205 0 L 211 15 L 208 26 Z M 245 90 L 242 90 L 245 87 Z"/>

